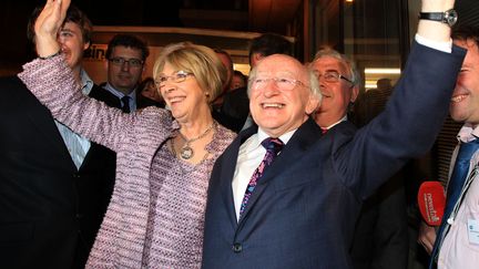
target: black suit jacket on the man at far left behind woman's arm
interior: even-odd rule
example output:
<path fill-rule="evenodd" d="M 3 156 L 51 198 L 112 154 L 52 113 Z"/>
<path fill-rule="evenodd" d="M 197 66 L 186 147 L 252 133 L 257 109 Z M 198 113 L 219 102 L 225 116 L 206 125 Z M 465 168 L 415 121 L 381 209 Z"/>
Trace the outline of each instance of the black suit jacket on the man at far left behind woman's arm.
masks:
<path fill-rule="evenodd" d="M 83 268 L 115 155 L 92 143 L 77 169 L 50 112 L 17 76 L 0 79 L 0 268 Z"/>

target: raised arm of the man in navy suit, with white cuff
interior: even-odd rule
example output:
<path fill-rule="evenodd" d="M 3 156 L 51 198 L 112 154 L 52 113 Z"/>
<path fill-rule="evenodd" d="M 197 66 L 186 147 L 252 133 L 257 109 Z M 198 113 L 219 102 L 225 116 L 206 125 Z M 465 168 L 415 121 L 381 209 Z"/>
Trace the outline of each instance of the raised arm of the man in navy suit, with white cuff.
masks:
<path fill-rule="evenodd" d="M 452 6 L 452 0 L 424 0 L 421 11 L 444 12 Z M 386 110 L 337 155 L 338 167 L 348 167 L 345 184 L 361 198 L 432 146 L 466 54 L 451 48 L 450 32 L 447 23 L 419 21 L 418 35 L 426 42 L 414 44 Z"/>

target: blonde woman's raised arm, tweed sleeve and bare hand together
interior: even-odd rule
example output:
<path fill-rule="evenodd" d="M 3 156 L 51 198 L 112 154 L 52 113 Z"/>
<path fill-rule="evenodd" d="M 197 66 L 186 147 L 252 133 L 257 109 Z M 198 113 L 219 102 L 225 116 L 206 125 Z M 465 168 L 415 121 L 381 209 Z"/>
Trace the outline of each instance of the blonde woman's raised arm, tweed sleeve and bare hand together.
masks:
<path fill-rule="evenodd" d="M 133 134 L 131 131 L 137 117 L 89 99 L 80 91 L 57 41 L 69 4 L 70 0 L 47 2 L 34 25 L 40 59 L 26 64 L 19 77 L 58 121 L 118 152 L 122 141 Z"/>

